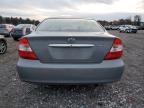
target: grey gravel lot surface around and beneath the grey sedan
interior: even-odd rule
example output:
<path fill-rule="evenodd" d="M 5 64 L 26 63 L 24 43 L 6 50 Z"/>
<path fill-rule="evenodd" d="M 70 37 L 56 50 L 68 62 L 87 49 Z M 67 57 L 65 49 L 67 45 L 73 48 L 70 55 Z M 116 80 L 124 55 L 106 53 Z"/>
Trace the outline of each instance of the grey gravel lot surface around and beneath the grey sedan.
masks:
<path fill-rule="evenodd" d="M 124 42 L 121 81 L 92 86 L 37 86 L 21 82 L 16 71 L 18 42 L 7 39 L 0 55 L 0 108 L 144 108 L 144 31 L 110 31 Z"/>

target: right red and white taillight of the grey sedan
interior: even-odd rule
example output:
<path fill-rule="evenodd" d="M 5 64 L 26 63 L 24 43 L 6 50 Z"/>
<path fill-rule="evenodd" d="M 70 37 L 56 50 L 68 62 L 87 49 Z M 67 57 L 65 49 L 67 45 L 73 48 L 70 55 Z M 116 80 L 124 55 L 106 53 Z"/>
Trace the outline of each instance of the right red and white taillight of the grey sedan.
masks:
<path fill-rule="evenodd" d="M 122 46 L 122 40 L 119 38 L 115 38 L 112 48 L 105 56 L 105 60 L 112 60 L 112 59 L 118 59 L 123 54 L 123 46 Z"/>

